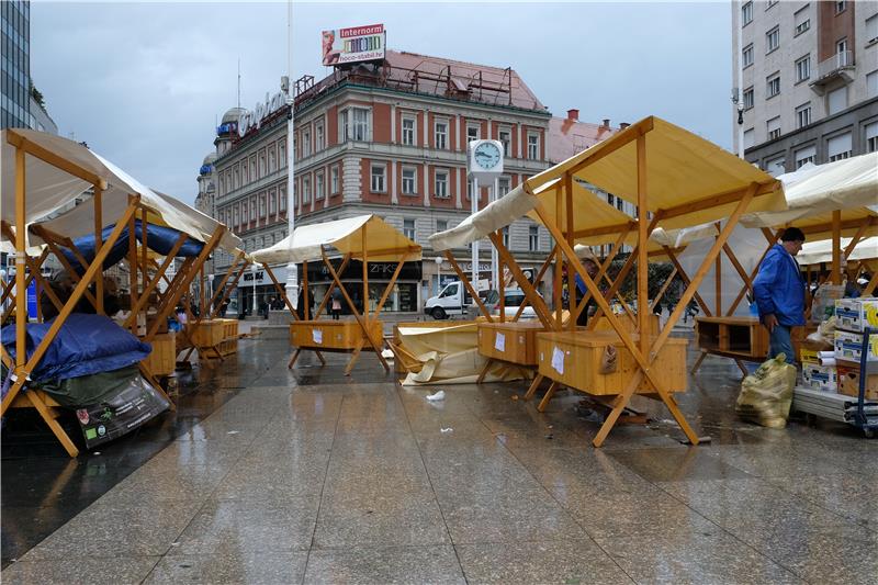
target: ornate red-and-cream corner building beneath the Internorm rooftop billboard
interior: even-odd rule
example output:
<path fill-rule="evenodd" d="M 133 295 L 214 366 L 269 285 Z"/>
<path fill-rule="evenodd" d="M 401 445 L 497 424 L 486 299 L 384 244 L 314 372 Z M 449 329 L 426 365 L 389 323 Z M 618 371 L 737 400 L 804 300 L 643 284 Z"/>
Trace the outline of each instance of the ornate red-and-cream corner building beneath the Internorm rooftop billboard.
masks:
<path fill-rule="evenodd" d="M 286 115 L 284 108 L 272 104 L 278 100 L 267 97 L 258 108 L 258 127 L 241 127 L 254 116 L 230 110 L 215 140 L 213 214 L 241 237 L 248 251 L 288 234 Z M 406 267 L 386 305 L 391 312 L 419 313 L 427 296 L 457 280 L 447 261 L 432 261 L 437 255 L 428 236 L 469 216 L 473 196 L 480 207 L 492 196 L 493 185 L 468 180 L 468 143 L 503 142 L 502 196 L 614 132 L 609 121 L 583 124 L 574 112 L 553 120 L 510 68 L 410 53 L 389 50 L 378 66 L 337 69 L 317 83 L 303 78 L 295 98 L 295 224 L 374 213 L 424 246 L 424 261 Z M 534 274 L 551 249 L 548 230 L 529 220 L 515 222 L 503 237 L 521 267 Z M 471 251 L 453 254 L 469 272 Z M 480 243 L 480 258 L 481 278 L 487 279 L 488 240 Z M 229 261 L 228 255 L 217 254 L 215 272 L 224 273 Z M 376 267 L 379 274 L 385 268 Z M 308 283 L 319 299 L 328 274 L 312 270 Z M 284 282 L 285 267 L 274 272 Z M 375 284 L 381 286 L 380 277 Z M 239 292 L 246 306 L 252 304 L 254 292 L 275 294 L 260 271 L 245 274 Z"/>

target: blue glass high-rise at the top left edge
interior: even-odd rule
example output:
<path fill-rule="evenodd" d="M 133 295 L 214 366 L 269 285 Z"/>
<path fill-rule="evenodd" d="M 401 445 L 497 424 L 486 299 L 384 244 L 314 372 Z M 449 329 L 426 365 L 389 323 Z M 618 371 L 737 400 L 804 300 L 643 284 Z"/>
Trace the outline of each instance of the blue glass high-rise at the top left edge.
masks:
<path fill-rule="evenodd" d="M 29 128 L 31 124 L 31 2 L 0 2 L 2 20 L 2 77 L 0 128 Z"/>

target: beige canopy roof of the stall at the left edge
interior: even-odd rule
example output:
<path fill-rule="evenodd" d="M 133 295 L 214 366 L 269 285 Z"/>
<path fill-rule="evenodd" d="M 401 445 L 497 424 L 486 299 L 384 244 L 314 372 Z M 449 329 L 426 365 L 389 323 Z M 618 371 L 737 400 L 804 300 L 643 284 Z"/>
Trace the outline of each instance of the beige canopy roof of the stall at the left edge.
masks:
<path fill-rule="evenodd" d="M 15 225 L 15 148 L 10 140 L 23 139 L 68 161 L 106 182 L 102 194 L 102 220 L 104 226 L 112 225 L 128 205 L 128 195 L 140 195 L 140 203 L 150 212 L 150 222 L 172 227 L 179 232 L 207 241 L 216 226 L 215 220 L 192 209 L 185 203 L 169 195 L 160 194 L 144 185 L 124 170 L 120 169 L 88 147 L 50 134 L 31 130 L 4 130 L 0 132 L 0 172 L 2 173 L 2 210 L 0 216 L 10 225 Z M 25 154 L 25 222 L 31 225 L 44 220 L 47 215 L 71 204 L 92 184 L 75 177 L 66 170 L 50 165 L 35 156 Z M 76 238 L 92 234 L 93 199 L 72 207 L 70 211 L 45 222 L 46 228 Z M 40 238 L 29 235 L 29 245 L 38 244 Z M 221 246 L 234 250 L 240 246 L 240 239 L 227 230 Z"/>

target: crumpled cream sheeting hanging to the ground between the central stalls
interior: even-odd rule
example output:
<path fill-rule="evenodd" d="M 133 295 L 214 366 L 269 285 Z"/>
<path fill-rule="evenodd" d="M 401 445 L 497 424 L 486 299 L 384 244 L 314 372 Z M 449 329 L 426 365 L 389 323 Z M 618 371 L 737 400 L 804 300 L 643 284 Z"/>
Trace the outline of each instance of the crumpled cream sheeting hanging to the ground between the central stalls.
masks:
<path fill-rule="evenodd" d="M 419 372 L 409 372 L 404 386 L 428 384 L 474 384 L 487 358 L 479 355 L 479 327 L 476 323 L 443 327 L 405 327 L 399 325 L 399 341 L 403 349 L 420 363 Z M 506 374 L 498 378 L 488 373 L 485 382 L 516 380 Z"/>

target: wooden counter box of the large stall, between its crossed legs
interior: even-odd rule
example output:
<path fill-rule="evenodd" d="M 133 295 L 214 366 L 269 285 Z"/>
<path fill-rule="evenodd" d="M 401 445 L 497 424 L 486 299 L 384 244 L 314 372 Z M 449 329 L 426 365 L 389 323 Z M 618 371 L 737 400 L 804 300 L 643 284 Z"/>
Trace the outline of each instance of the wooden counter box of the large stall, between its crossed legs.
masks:
<path fill-rule="evenodd" d="M 618 352 L 617 369 L 616 372 L 601 374 L 600 360 L 605 348 L 610 345 Z M 686 391 L 687 345 L 686 339 L 669 338 L 653 365 L 653 371 L 661 372 L 665 387 L 671 392 Z M 560 368 L 553 367 L 553 357 Z M 637 371 L 633 356 L 619 336 L 611 331 L 539 333 L 537 362 L 539 372 L 550 380 L 598 396 L 621 393 Z M 637 392 L 649 394 L 654 391 L 644 380 Z"/>

